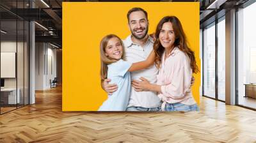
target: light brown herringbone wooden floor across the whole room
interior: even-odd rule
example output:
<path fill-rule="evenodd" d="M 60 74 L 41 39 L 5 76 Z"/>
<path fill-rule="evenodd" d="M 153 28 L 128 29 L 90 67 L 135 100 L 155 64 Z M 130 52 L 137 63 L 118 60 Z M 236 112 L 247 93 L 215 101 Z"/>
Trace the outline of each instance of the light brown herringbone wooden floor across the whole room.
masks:
<path fill-rule="evenodd" d="M 256 112 L 202 98 L 200 112 L 62 112 L 61 88 L 0 116 L 0 142 L 256 142 Z"/>

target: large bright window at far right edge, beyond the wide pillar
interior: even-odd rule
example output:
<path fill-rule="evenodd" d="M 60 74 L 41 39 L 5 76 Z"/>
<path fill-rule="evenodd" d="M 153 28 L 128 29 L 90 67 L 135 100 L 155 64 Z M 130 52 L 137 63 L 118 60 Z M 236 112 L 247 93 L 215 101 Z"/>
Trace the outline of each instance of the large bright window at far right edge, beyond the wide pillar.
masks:
<path fill-rule="evenodd" d="M 237 11 L 238 105 L 256 109 L 256 3 Z"/>

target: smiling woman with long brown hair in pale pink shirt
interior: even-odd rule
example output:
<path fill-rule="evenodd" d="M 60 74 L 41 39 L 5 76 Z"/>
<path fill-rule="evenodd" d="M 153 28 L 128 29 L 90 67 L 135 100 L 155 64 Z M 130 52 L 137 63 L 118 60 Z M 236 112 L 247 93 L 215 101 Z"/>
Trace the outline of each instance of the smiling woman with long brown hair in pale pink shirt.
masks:
<path fill-rule="evenodd" d="M 189 49 L 186 35 L 175 16 L 161 19 L 156 28 L 156 66 L 159 68 L 157 84 L 150 84 L 141 77 L 141 82 L 132 82 L 136 90 L 156 91 L 163 101 L 162 110 L 198 110 L 190 91 L 192 73 L 199 72 L 195 54 Z"/>

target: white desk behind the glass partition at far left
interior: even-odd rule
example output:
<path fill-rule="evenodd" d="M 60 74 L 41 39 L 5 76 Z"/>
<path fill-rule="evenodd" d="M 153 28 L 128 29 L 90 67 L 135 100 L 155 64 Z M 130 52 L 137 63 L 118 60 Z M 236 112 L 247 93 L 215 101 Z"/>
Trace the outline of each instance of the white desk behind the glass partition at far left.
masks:
<path fill-rule="evenodd" d="M 18 88 L 17 91 L 18 94 L 16 99 L 16 88 L 1 89 L 1 102 L 4 102 L 4 104 L 16 104 L 16 101 L 17 103 L 20 103 L 20 89 Z"/>

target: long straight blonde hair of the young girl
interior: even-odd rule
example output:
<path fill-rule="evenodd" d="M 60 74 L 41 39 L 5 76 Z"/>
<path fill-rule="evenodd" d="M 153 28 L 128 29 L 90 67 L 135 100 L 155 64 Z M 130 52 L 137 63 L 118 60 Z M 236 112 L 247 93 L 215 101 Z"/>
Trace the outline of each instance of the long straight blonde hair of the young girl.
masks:
<path fill-rule="evenodd" d="M 120 43 L 123 48 L 123 55 L 122 59 L 124 57 L 124 44 L 122 40 L 116 36 L 115 34 L 108 34 L 107 36 L 104 36 L 102 40 L 100 41 L 100 79 L 104 80 L 108 76 L 108 64 L 115 63 L 116 59 L 111 59 L 108 56 L 106 56 L 106 47 L 108 45 L 108 41 L 111 40 L 111 38 L 118 38 L 120 40 Z"/>

